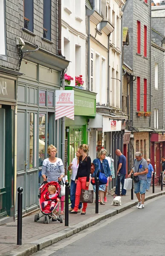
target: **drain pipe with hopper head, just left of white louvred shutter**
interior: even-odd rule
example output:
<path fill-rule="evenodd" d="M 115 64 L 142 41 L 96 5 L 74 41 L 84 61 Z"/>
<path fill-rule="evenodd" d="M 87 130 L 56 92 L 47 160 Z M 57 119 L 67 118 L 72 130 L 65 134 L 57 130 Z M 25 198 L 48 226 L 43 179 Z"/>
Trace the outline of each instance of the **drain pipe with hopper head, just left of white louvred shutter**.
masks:
<path fill-rule="evenodd" d="M 93 15 L 95 10 L 86 9 L 87 23 L 88 23 L 88 84 L 87 90 L 90 90 L 90 16 Z"/>

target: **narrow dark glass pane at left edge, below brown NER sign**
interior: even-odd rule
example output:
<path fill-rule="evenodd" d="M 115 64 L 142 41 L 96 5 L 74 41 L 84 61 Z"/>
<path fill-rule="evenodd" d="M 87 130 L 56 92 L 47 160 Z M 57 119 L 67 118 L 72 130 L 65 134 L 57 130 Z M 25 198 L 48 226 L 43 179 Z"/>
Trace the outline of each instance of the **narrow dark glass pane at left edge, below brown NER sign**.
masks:
<path fill-rule="evenodd" d="M 0 108 L 0 189 L 5 187 L 5 109 Z"/>

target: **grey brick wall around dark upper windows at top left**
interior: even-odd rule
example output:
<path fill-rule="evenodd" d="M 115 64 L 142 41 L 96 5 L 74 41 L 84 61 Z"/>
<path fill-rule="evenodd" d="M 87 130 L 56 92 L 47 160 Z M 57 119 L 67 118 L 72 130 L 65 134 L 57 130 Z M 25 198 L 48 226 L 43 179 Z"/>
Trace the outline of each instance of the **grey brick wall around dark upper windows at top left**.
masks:
<path fill-rule="evenodd" d="M 6 44 L 7 61 L 0 58 L 0 65 L 15 69 L 18 63 L 16 36 L 25 42 L 38 45 L 46 51 L 58 54 L 58 5 L 52 0 L 51 40 L 53 44 L 43 41 L 43 1 L 34 0 L 34 34 L 31 35 L 23 28 L 23 0 L 6 0 Z"/>

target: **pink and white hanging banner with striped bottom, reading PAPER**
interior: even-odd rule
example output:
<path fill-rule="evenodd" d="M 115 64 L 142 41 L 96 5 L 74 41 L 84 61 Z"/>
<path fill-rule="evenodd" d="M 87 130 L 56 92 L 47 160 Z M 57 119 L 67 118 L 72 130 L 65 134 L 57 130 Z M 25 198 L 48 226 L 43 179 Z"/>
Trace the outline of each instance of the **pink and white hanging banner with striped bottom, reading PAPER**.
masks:
<path fill-rule="evenodd" d="M 68 117 L 74 120 L 74 90 L 55 91 L 55 120 Z"/>

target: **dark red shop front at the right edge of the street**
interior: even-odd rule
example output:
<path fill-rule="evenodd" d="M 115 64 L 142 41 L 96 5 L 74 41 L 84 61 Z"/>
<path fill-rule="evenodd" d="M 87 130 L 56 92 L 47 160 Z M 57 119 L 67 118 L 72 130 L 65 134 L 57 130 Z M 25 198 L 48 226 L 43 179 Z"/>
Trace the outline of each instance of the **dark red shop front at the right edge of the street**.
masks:
<path fill-rule="evenodd" d="M 155 171 L 155 184 L 159 182 L 162 172 L 161 157 L 165 156 L 165 135 L 152 133 L 150 136 L 151 164 Z"/>

